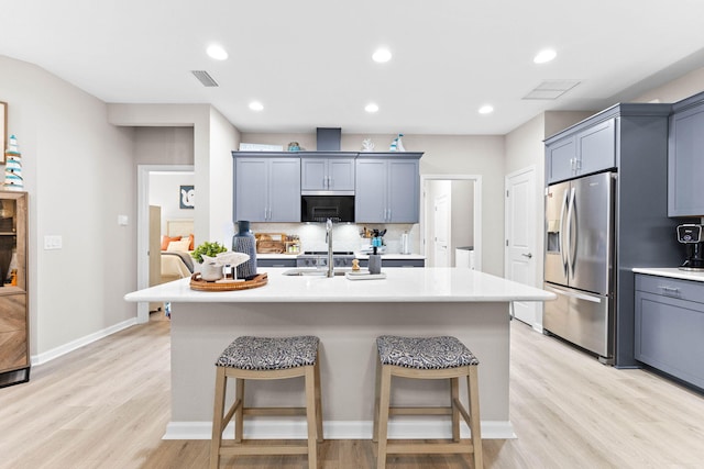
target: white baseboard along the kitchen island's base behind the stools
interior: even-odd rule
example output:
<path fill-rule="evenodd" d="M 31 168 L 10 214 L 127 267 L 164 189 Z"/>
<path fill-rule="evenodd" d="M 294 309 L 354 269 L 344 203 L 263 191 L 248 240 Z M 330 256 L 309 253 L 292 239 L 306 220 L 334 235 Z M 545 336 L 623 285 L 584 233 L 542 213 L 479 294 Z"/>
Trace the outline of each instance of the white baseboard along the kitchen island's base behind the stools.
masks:
<path fill-rule="evenodd" d="M 372 422 L 334 421 L 323 422 L 326 439 L 371 439 Z M 224 431 L 226 438 L 234 435 L 232 422 Z M 229 435 L 229 436 L 228 436 Z M 169 422 L 163 439 L 210 439 L 211 422 Z M 449 422 L 428 422 L 422 420 L 404 420 L 388 423 L 389 438 L 451 438 Z M 470 429 L 462 423 L 461 436 L 470 437 Z M 252 439 L 305 439 L 306 423 L 302 420 L 267 420 L 248 421 L 244 425 L 244 437 Z M 514 439 L 514 426 L 510 421 L 482 421 L 482 439 Z"/>

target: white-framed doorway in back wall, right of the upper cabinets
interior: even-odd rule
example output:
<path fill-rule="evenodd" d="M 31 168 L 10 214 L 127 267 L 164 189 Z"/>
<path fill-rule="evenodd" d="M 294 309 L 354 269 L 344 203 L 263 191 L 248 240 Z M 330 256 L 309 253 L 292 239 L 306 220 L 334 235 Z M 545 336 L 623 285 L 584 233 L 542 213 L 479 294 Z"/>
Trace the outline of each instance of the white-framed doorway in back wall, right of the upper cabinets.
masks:
<path fill-rule="evenodd" d="M 482 269 L 482 177 L 476 175 L 421 175 L 422 188 L 420 211 L 421 252 L 426 256 L 426 266 L 455 267 L 455 252 L 471 248 L 473 267 Z M 439 204 L 439 219 L 447 220 L 447 261 L 436 255 L 436 208 Z M 442 206 L 444 205 L 444 206 Z M 439 257 L 439 258 L 438 258 Z"/>

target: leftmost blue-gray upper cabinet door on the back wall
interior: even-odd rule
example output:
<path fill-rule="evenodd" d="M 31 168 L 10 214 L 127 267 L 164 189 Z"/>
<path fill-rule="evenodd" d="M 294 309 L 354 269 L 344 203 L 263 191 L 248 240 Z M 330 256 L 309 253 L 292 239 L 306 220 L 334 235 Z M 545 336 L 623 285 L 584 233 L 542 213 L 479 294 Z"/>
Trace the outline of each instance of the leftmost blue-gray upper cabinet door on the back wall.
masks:
<path fill-rule="evenodd" d="M 234 220 L 267 221 L 268 161 L 268 158 L 235 158 Z"/>

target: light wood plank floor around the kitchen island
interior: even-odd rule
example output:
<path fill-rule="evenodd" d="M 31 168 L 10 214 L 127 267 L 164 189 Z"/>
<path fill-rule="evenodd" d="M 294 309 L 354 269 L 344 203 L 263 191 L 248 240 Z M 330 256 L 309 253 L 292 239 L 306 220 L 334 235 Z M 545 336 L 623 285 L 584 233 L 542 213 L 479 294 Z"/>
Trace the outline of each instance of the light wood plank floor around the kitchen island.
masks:
<path fill-rule="evenodd" d="M 29 383 L 0 389 L 0 468 L 207 467 L 209 442 L 161 439 L 168 375 L 168 322 L 160 316 L 35 367 Z M 704 398 L 660 377 L 605 367 L 515 321 L 510 387 L 518 438 L 484 440 L 487 468 L 704 467 Z M 323 469 L 374 467 L 369 440 L 327 440 L 319 458 Z M 223 462 L 307 467 L 302 456 Z M 387 467 L 471 464 L 392 456 Z"/>

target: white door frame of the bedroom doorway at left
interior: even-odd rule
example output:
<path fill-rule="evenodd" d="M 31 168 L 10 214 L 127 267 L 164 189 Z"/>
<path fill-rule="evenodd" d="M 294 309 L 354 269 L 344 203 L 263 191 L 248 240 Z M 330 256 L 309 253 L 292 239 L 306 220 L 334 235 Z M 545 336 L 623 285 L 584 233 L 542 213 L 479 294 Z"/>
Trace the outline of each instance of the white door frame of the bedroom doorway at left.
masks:
<path fill-rule="evenodd" d="M 194 165 L 138 165 L 136 167 L 136 288 L 150 286 L 150 174 L 195 172 Z M 196 209 L 197 210 L 197 205 Z M 138 324 L 150 321 L 150 303 L 136 303 Z"/>

